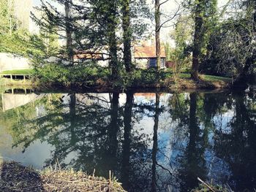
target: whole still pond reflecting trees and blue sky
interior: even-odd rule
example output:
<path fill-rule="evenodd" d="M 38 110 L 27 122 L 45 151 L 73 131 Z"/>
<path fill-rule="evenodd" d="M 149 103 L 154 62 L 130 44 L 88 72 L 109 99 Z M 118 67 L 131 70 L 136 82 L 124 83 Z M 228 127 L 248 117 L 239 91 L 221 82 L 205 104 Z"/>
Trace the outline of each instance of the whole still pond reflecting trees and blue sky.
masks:
<path fill-rule="evenodd" d="M 256 94 L 1 88 L 0 156 L 109 177 L 127 191 L 256 188 Z"/>

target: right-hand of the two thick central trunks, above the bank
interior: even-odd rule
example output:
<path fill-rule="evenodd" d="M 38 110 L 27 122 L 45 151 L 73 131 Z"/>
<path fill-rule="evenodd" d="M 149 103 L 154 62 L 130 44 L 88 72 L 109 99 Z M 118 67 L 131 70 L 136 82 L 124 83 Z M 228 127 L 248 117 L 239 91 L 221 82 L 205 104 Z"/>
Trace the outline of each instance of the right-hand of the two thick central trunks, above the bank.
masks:
<path fill-rule="evenodd" d="M 124 38 L 124 66 L 127 72 L 132 71 L 132 53 L 131 53 L 131 39 L 132 39 L 132 30 L 130 28 L 130 0 L 123 1 L 123 38 Z"/>

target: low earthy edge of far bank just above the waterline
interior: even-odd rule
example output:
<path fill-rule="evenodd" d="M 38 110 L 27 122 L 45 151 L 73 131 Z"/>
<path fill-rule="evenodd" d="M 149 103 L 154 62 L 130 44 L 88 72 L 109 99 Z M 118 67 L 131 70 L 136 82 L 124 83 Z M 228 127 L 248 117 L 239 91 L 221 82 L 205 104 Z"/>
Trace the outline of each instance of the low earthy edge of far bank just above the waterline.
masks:
<path fill-rule="evenodd" d="M 233 88 L 233 86 L 230 84 L 230 82 L 225 81 L 209 81 L 209 80 L 199 80 L 195 82 L 194 80 L 190 79 L 180 79 L 177 82 L 174 82 L 173 80 L 165 80 L 160 83 L 140 83 L 137 85 L 114 85 L 114 83 L 108 82 L 108 81 L 99 81 L 95 82 L 93 85 L 87 85 L 83 82 L 70 82 L 69 84 L 61 84 L 58 82 L 33 82 L 31 80 L 9 80 L 9 79 L 1 79 L 0 80 L 0 86 L 23 86 L 27 88 L 38 88 L 38 89 L 69 89 L 69 90 L 103 90 L 103 91 L 121 91 L 124 90 L 140 90 L 140 89 L 164 89 L 172 91 L 174 89 L 208 89 L 208 90 L 214 90 L 214 89 L 230 89 Z"/>

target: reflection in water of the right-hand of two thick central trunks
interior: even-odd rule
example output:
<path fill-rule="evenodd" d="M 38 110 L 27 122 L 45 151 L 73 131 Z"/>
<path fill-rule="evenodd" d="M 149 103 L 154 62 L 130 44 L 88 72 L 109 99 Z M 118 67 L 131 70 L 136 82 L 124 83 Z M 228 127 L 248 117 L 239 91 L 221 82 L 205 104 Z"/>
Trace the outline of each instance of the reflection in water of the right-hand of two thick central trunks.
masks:
<path fill-rule="evenodd" d="M 124 107 L 124 144 L 123 144 L 123 159 L 122 159 L 122 172 L 121 182 L 124 188 L 129 191 L 129 156 L 131 145 L 131 129 L 132 129 L 132 104 L 133 93 L 127 92 L 127 102 Z"/>

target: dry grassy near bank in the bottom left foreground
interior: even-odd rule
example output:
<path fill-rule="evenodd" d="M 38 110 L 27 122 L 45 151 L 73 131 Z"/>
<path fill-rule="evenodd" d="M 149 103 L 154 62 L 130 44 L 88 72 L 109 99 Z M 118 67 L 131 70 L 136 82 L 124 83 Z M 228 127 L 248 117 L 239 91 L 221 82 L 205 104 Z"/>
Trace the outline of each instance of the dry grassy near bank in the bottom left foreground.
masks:
<path fill-rule="evenodd" d="M 12 161 L 2 161 L 0 172 L 0 191 L 124 191 L 113 177 L 107 180 L 72 170 L 35 171 Z"/>

